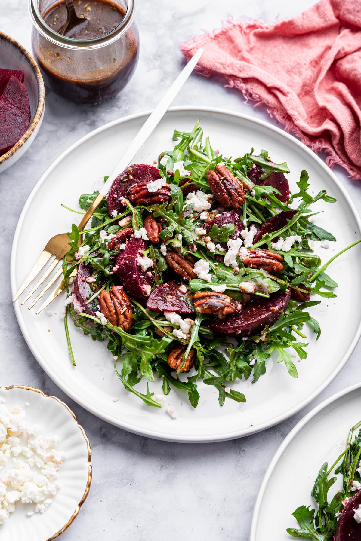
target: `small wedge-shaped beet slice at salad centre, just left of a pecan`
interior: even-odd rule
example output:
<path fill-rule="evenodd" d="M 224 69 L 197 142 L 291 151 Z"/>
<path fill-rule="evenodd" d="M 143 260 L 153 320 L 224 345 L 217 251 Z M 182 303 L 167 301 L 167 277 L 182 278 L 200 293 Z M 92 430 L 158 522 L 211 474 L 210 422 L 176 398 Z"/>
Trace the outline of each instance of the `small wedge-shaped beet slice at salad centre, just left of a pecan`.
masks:
<path fill-rule="evenodd" d="M 155 312 L 175 312 L 176 314 L 194 314 L 191 305 L 192 292 L 187 287 L 186 293 L 179 290 L 186 286 L 170 281 L 162 286 L 157 286 L 147 300 L 147 308 Z"/>

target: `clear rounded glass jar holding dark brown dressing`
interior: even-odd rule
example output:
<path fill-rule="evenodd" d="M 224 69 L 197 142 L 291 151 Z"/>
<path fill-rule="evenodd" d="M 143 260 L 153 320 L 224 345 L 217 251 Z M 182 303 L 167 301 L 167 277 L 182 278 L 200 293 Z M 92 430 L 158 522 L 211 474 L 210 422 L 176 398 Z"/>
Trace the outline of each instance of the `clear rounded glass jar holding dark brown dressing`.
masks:
<path fill-rule="evenodd" d="M 138 61 L 135 0 L 111 0 L 124 13 L 121 23 L 107 34 L 88 40 L 62 36 L 45 23 L 43 17 L 59 3 L 29 0 L 34 25 L 32 50 L 45 85 L 77 103 L 109 100 L 128 83 Z"/>

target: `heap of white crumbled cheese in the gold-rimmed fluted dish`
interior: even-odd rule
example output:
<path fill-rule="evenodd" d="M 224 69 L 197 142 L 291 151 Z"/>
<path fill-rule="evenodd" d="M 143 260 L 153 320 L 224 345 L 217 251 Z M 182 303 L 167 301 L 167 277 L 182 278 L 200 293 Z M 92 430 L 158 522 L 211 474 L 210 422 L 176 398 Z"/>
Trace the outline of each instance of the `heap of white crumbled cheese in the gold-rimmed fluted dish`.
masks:
<path fill-rule="evenodd" d="M 40 426 L 28 427 L 21 407 L 0 403 L 0 470 L 8 466 L 0 476 L 0 524 L 15 511 L 16 502 L 36 504 L 35 512 L 47 510 L 60 487 L 56 479 L 65 455 L 55 451 L 59 441 L 42 436 Z"/>

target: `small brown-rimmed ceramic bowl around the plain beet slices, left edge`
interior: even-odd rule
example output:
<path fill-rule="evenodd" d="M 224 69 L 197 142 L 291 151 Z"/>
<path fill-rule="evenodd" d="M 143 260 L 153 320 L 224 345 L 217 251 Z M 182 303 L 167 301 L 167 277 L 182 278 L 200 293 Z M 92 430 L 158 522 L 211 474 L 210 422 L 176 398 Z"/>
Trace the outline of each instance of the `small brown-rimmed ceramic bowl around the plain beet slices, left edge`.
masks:
<path fill-rule="evenodd" d="M 34 141 L 43 120 L 45 87 L 40 69 L 30 53 L 15 39 L 0 32 L 0 68 L 23 70 L 30 103 L 30 124 L 21 139 L 0 156 L 0 173 L 12 166 Z"/>

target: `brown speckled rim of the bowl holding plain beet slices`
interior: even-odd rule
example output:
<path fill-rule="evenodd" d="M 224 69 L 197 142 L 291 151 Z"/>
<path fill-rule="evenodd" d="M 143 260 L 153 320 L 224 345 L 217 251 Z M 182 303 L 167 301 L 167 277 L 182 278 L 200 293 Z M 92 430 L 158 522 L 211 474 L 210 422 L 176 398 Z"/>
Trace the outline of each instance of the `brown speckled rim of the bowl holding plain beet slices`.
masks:
<path fill-rule="evenodd" d="M 14 147 L 11 147 L 10 150 L 8 150 L 5 154 L 0 156 L 0 165 L 10 158 L 10 156 L 14 155 L 16 151 L 23 146 L 23 144 L 29 139 L 30 135 L 32 135 L 33 131 L 35 130 L 37 124 L 40 122 L 44 107 L 45 107 L 45 87 L 44 87 L 44 81 L 43 77 L 41 75 L 40 69 L 35 62 L 34 58 L 30 55 L 30 52 L 27 51 L 20 43 L 16 41 L 16 39 L 8 36 L 7 34 L 4 34 L 0 31 L 0 43 L 2 41 L 7 41 L 12 45 L 12 47 L 17 48 L 25 58 L 27 58 L 29 64 L 31 65 L 32 71 L 34 71 L 34 74 L 36 76 L 37 81 L 37 91 L 38 91 L 38 100 L 37 100 L 37 106 L 34 118 L 32 119 L 30 126 L 28 127 L 27 131 L 25 131 L 24 135 L 15 143 Z"/>

